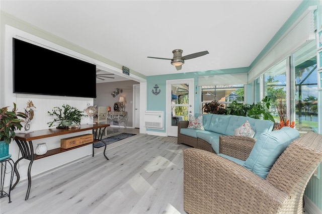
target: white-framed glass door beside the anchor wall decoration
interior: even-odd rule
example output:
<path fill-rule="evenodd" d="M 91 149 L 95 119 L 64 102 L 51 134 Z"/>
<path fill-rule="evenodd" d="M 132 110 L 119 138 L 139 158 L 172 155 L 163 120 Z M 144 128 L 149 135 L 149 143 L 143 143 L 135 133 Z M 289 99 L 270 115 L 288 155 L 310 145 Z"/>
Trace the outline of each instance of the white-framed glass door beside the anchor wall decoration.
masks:
<path fill-rule="evenodd" d="M 189 121 L 194 113 L 193 79 L 167 81 L 167 132 L 178 136 L 178 123 Z"/>

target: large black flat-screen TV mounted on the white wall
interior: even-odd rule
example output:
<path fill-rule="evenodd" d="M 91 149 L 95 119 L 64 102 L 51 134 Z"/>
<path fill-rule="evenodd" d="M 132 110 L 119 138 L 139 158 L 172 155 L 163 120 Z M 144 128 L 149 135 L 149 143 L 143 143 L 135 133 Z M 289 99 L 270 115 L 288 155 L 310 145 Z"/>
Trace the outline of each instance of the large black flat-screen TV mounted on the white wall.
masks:
<path fill-rule="evenodd" d="M 96 98 L 96 65 L 13 38 L 13 92 Z"/>

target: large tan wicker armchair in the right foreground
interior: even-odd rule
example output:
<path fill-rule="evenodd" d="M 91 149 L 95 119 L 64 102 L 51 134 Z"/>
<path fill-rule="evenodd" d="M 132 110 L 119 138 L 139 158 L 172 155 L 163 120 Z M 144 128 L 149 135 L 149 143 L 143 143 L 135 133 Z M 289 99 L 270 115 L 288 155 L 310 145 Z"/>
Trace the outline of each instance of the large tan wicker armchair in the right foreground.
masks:
<path fill-rule="evenodd" d="M 266 179 L 214 153 L 186 149 L 184 209 L 190 214 L 302 213 L 306 184 L 321 161 L 322 135 L 314 132 L 294 140 Z"/>

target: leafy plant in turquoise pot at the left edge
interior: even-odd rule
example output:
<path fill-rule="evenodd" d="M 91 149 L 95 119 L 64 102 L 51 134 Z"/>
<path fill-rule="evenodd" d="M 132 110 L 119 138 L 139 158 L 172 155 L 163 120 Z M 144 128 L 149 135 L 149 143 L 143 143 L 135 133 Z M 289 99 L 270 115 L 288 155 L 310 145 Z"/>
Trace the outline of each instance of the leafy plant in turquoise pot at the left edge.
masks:
<path fill-rule="evenodd" d="M 23 127 L 21 118 L 26 118 L 27 115 L 22 112 L 17 112 L 17 106 L 14 102 L 14 109 L 8 111 L 9 106 L 0 109 L 0 158 L 9 155 L 9 144 L 15 138 L 16 130 L 21 130 Z"/>

